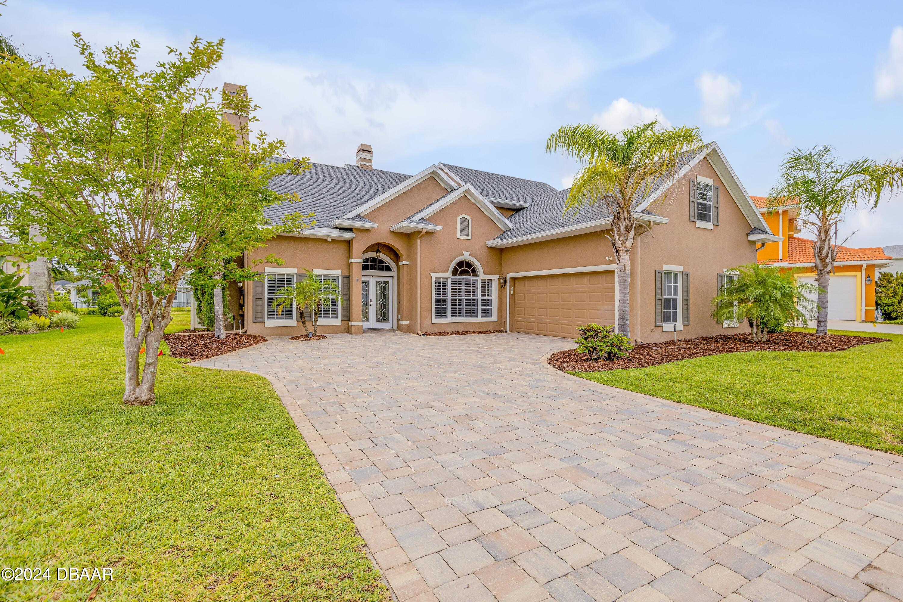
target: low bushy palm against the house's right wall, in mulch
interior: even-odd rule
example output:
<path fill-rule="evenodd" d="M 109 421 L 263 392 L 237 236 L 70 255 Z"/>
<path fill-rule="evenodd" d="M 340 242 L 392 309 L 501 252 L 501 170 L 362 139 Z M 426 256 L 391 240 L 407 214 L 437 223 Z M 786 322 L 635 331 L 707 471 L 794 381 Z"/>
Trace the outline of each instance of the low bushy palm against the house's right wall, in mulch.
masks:
<path fill-rule="evenodd" d="M 769 324 L 776 330 L 805 325 L 817 309 L 811 296 L 818 287 L 798 281 L 795 270 L 748 264 L 733 272 L 736 277 L 724 282 L 712 299 L 712 317 L 719 322 L 748 321 L 753 340 L 768 340 Z"/>

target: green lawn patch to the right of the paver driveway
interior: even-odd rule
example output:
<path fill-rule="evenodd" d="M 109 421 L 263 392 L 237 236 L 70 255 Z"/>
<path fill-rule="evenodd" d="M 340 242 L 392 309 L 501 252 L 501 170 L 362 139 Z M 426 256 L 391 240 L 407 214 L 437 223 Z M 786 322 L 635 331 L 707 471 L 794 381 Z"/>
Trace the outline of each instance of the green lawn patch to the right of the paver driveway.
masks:
<path fill-rule="evenodd" d="M 731 353 L 607 372 L 572 373 L 751 421 L 903 453 L 903 336 L 836 353 Z"/>

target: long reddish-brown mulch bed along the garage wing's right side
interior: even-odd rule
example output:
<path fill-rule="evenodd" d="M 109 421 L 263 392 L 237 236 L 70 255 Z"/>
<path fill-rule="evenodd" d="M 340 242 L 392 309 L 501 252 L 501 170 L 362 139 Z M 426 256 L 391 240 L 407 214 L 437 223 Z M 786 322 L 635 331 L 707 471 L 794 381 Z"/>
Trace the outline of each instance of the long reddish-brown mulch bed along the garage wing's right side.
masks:
<path fill-rule="evenodd" d="M 752 340 L 752 335 L 718 335 L 638 345 L 628 357 L 611 362 L 593 362 L 575 349 L 566 349 L 549 356 L 549 366 L 564 372 L 602 372 L 645 368 L 692 357 L 717 356 L 738 351 L 843 351 L 860 345 L 889 341 L 889 338 L 855 337 L 851 335 L 824 335 L 816 337 L 811 332 L 778 332 L 768 335 L 764 343 Z"/>

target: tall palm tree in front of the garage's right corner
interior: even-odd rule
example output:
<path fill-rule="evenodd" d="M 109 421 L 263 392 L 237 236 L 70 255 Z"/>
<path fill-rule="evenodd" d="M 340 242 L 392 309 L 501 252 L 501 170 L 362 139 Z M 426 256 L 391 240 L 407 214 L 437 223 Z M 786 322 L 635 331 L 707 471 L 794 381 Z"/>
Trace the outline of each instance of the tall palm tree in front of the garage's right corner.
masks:
<path fill-rule="evenodd" d="M 561 151 L 581 164 L 564 212 L 585 205 L 608 209 L 608 235 L 618 264 L 618 332 L 630 336 L 630 249 L 638 225 L 634 209 L 656 184 L 675 177 L 684 151 L 703 143 L 696 127 L 659 128 L 657 121 L 611 134 L 598 125 L 564 125 L 549 136 L 545 151 Z M 663 197 L 664 200 L 664 197 Z"/>

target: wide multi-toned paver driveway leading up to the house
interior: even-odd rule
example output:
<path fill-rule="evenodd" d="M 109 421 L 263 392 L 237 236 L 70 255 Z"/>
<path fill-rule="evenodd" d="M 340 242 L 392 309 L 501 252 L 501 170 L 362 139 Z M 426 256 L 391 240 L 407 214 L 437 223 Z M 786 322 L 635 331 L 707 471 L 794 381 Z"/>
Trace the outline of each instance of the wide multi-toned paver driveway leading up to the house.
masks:
<path fill-rule="evenodd" d="M 270 377 L 400 600 L 903 597 L 898 456 L 541 363 L 568 344 L 382 332 L 199 364 Z"/>

